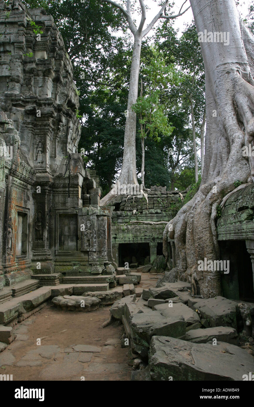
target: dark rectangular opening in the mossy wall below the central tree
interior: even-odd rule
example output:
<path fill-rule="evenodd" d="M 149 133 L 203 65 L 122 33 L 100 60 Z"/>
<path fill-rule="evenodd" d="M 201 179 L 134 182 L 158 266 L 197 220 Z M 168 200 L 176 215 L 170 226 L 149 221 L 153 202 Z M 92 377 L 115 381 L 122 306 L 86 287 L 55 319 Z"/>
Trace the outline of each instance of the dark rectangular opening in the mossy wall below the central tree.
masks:
<path fill-rule="evenodd" d="M 124 263 L 138 263 L 142 266 L 145 260 L 150 259 L 149 243 L 120 243 L 118 247 L 119 267 L 124 267 Z M 133 261 L 136 260 L 136 261 Z"/>

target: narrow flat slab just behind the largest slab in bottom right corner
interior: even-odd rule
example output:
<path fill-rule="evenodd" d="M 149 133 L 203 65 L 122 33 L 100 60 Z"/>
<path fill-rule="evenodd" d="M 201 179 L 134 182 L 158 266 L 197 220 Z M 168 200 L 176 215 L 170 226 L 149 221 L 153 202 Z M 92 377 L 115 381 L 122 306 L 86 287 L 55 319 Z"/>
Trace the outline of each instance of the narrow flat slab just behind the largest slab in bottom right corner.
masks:
<path fill-rule="evenodd" d="M 214 328 L 192 329 L 186 332 L 186 341 L 195 344 L 206 344 L 213 339 L 217 341 L 227 342 L 227 344 L 238 345 L 239 339 L 236 329 L 230 326 L 216 326 Z"/>

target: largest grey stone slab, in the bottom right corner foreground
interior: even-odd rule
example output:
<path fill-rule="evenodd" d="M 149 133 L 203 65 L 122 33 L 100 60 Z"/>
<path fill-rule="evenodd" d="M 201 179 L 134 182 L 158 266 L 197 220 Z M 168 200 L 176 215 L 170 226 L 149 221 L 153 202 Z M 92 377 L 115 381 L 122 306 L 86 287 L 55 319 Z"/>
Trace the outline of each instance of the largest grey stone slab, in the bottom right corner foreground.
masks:
<path fill-rule="evenodd" d="M 244 349 L 225 342 L 193 344 L 181 339 L 154 336 L 149 365 L 156 381 L 242 381 L 254 371 L 254 358 Z"/>

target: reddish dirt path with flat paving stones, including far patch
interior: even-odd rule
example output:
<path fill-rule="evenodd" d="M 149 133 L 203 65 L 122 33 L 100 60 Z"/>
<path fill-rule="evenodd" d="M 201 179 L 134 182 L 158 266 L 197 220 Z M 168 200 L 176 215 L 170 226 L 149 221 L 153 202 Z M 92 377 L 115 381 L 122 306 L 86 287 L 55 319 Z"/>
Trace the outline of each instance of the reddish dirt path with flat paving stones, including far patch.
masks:
<path fill-rule="evenodd" d="M 139 287 L 155 286 L 157 277 L 143 274 Z M 15 326 L 17 338 L 0 354 L 1 373 L 13 381 L 129 381 L 123 325 L 101 328 L 109 309 L 60 311 L 48 303 Z"/>

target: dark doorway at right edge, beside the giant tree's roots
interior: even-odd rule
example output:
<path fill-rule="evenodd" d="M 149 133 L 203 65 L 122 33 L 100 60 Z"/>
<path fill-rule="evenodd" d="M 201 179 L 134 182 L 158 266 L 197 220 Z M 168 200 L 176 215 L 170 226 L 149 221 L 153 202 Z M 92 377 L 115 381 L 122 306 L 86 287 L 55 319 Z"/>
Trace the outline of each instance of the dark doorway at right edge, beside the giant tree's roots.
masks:
<path fill-rule="evenodd" d="M 223 296 L 254 302 L 253 272 L 245 241 L 220 241 L 221 260 L 229 260 L 229 273 L 221 274 Z"/>

